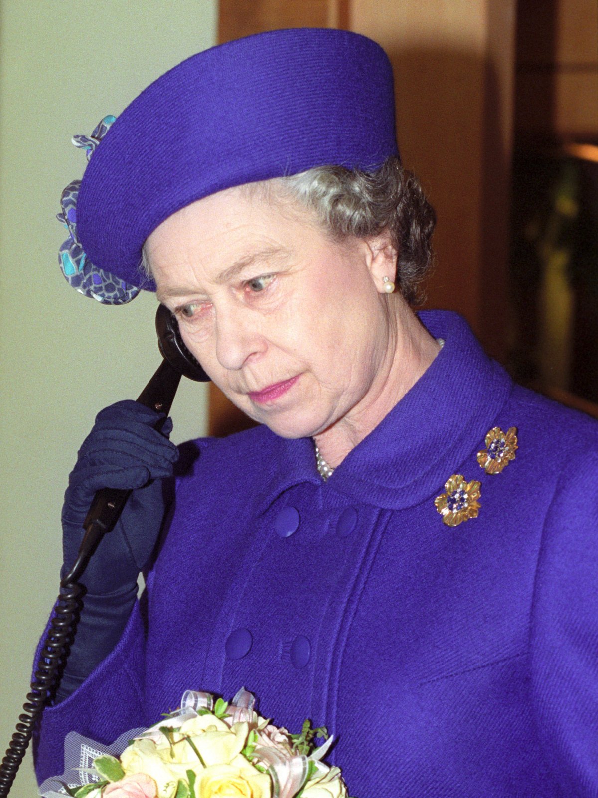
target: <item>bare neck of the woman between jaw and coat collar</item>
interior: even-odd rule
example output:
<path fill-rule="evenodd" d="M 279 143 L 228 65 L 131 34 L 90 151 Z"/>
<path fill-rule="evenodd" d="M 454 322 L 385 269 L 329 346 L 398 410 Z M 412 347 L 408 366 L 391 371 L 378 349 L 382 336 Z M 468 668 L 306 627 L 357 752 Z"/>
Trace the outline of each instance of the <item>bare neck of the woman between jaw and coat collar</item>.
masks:
<path fill-rule="evenodd" d="M 400 296 L 393 298 L 396 314 L 382 368 L 358 405 L 323 433 L 314 437 L 320 455 L 336 468 L 418 381 L 440 350 Z"/>

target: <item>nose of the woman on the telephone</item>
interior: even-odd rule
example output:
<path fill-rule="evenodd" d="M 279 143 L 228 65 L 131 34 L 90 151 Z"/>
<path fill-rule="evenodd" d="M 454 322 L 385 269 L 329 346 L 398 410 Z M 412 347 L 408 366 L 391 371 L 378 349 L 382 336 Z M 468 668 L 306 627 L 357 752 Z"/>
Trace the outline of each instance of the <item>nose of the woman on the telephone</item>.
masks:
<path fill-rule="evenodd" d="M 216 311 L 216 358 L 224 369 L 241 369 L 265 349 L 251 311 L 230 306 L 220 313 Z"/>

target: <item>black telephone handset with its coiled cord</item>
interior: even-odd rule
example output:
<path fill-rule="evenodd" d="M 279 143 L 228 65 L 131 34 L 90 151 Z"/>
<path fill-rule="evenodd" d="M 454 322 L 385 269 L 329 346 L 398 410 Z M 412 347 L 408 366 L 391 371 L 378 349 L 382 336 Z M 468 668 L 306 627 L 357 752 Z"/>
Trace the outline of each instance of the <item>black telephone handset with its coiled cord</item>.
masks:
<path fill-rule="evenodd" d="M 184 345 L 176 318 L 164 305 L 160 305 L 156 312 L 156 332 L 164 360 L 137 397 L 137 401 L 168 416 L 181 375 L 201 382 L 207 382 L 210 378 Z M 162 421 L 159 421 L 158 425 L 160 423 Z M 85 536 L 77 561 L 61 581 L 61 593 L 58 596 L 50 632 L 35 670 L 31 692 L 27 695 L 27 701 L 23 705 L 24 711 L 19 716 L 17 731 L 13 734 L 9 749 L 0 765 L 0 798 L 6 798 L 10 792 L 14 777 L 29 746 L 34 726 L 53 690 L 57 673 L 64 666 L 65 652 L 81 596 L 81 587 L 77 585 L 77 579 L 85 570 L 89 555 L 93 553 L 102 535 L 109 532 L 117 523 L 130 493 L 117 488 L 102 488 L 93 497 L 83 523 Z"/>

